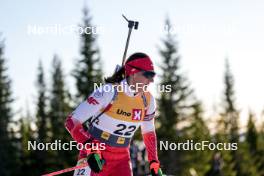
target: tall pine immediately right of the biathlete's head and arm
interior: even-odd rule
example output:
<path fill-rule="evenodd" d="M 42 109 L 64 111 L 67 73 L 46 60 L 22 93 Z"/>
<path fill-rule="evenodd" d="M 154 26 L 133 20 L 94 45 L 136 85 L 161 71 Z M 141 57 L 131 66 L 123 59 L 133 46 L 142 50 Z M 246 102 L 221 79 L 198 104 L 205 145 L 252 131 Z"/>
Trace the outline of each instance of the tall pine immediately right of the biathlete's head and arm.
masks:
<path fill-rule="evenodd" d="M 165 24 L 171 27 L 169 19 Z M 160 84 L 171 86 L 171 91 L 161 92 L 158 100 L 160 127 L 157 129 L 158 139 L 163 141 L 179 141 L 180 130 L 176 128 L 180 121 L 188 116 L 192 109 L 192 89 L 180 68 L 180 56 L 178 54 L 175 36 L 168 31 L 163 39 L 163 48 L 159 49 L 162 57 L 162 70 Z M 161 151 L 160 159 L 164 164 L 164 171 L 167 174 L 179 174 L 184 170 L 181 165 L 183 154 L 180 151 Z M 180 174 L 179 174 L 180 175 Z"/>

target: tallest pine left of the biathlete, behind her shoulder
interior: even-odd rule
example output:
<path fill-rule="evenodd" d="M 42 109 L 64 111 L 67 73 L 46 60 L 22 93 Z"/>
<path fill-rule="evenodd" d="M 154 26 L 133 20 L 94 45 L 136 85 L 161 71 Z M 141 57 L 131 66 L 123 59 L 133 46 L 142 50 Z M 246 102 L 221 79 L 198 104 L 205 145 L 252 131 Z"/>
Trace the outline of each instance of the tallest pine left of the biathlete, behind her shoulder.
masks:
<path fill-rule="evenodd" d="M 83 24 L 81 27 L 86 29 L 91 27 L 91 17 L 87 8 L 83 10 Z M 78 102 L 85 99 L 93 92 L 94 83 L 101 83 L 102 70 L 99 49 L 96 46 L 94 34 L 81 34 L 81 58 L 76 64 L 73 76 L 76 79 Z"/>

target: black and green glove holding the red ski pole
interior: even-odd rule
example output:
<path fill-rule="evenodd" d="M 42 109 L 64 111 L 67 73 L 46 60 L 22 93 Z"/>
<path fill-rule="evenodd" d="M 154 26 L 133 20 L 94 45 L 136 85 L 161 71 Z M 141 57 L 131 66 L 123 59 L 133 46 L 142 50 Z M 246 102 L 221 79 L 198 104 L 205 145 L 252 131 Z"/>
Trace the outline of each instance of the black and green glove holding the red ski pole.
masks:
<path fill-rule="evenodd" d="M 102 158 L 100 151 L 92 151 L 87 156 L 87 163 L 94 173 L 99 173 L 103 170 L 105 160 Z"/>

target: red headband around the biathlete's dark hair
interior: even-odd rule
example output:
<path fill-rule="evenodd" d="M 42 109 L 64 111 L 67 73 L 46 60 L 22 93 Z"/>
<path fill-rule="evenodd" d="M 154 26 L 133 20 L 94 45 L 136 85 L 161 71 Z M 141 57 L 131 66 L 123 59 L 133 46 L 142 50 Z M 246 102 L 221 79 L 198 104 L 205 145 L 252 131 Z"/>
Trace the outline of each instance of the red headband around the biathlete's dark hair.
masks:
<path fill-rule="evenodd" d="M 133 68 L 133 66 L 139 69 Z M 139 59 L 127 62 L 125 64 L 126 76 L 142 71 L 140 69 L 145 70 L 145 71 L 154 71 L 153 63 L 149 57 L 139 58 Z"/>

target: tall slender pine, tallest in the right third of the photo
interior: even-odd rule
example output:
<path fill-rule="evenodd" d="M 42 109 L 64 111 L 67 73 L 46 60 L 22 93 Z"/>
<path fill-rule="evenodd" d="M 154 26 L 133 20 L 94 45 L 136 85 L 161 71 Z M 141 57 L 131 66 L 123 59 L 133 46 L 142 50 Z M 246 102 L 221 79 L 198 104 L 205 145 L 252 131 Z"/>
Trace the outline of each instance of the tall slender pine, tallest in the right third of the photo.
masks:
<path fill-rule="evenodd" d="M 226 60 L 225 65 L 224 83 L 224 110 L 221 114 L 222 119 L 219 122 L 219 126 L 222 125 L 222 129 L 218 131 L 217 142 L 237 143 L 237 150 L 221 151 L 223 160 L 221 172 L 223 175 L 257 176 L 254 160 L 249 155 L 248 147 L 239 139 L 239 111 L 235 101 L 234 77 L 228 60 Z"/>

